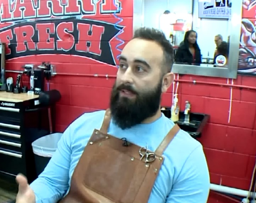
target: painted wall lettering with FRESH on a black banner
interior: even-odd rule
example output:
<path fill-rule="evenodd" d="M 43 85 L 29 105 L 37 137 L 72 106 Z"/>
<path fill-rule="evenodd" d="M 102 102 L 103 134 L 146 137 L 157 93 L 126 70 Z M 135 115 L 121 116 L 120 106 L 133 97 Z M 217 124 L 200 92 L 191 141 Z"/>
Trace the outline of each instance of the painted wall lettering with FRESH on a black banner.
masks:
<path fill-rule="evenodd" d="M 117 24 L 114 13 L 132 16 L 132 2 L 125 5 L 118 0 L 1 0 L 0 42 L 7 45 L 6 59 L 71 55 L 115 65 L 120 54 L 116 37 L 126 25 L 130 38 L 132 23 L 123 19 Z M 117 12 L 124 6 L 127 8 Z"/>

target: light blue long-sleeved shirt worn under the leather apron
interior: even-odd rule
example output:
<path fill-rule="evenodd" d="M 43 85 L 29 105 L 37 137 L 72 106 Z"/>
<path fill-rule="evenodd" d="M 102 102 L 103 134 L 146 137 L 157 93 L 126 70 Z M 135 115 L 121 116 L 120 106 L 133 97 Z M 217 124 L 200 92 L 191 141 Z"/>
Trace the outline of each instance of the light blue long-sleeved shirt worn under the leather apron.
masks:
<path fill-rule="evenodd" d="M 34 182 L 36 203 L 56 203 L 68 191 L 71 177 L 94 129 L 100 129 L 105 111 L 84 113 L 63 133 L 57 151 Z M 110 122 L 108 134 L 155 151 L 174 123 L 163 114 L 150 124 L 122 130 Z M 163 153 L 165 160 L 148 203 L 206 203 L 210 177 L 202 145 L 179 130 Z"/>

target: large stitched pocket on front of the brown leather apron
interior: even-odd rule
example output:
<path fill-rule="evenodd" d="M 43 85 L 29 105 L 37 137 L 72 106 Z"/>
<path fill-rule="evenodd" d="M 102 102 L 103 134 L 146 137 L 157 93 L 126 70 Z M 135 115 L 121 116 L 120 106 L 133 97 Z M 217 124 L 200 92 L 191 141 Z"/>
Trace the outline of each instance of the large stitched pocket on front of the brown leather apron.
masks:
<path fill-rule="evenodd" d="M 91 153 L 84 184 L 117 203 L 133 203 L 150 167 L 138 157 L 99 145 Z"/>

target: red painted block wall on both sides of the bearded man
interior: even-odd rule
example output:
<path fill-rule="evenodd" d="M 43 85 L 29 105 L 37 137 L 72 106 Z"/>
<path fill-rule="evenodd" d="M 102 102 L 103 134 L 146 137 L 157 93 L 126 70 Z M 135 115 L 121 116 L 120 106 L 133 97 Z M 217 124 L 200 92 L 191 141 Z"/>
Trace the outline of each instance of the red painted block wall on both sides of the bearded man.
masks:
<path fill-rule="evenodd" d="M 40 2 L 40 6 L 38 5 L 40 15 L 49 13 L 45 0 L 36 2 L 37 4 Z M 64 12 L 62 4 L 69 3 L 71 0 L 62 0 L 61 4 L 58 4 L 59 1 L 57 0 L 53 2 L 53 11 L 56 14 Z M 62 94 L 61 101 L 56 105 L 56 127 L 58 131 L 65 130 L 75 118 L 84 112 L 108 107 L 110 91 L 117 71 L 115 66 L 107 63 L 113 62 L 113 59 L 116 59 L 116 56 L 120 53 L 115 48 L 119 42 L 112 36 L 108 46 L 108 41 L 102 41 L 100 37 L 103 31 L 108 34 L 108 37 L 115 33 L 115 28 L 113 26 L 106 27 L 104 22 L 117 22 L 113 14 L 110 14 L 116 8 L 112 3 L 104 5 L 105 1 L 100 0 L 95 6 L 94 12 L 94 7 L 88 4 L 89 1 L 84 0 L 83 2 L 84 10 L 87 9 L 87 12 L 91 15 L 84 15 L 82 19 L 96 20 L 103 23 L 101 25 L 94 24 L 92 37 L 89 37 L 88 32 L 86 32 L 86 28 L 90 27 L 88 27 L 88 22 L 82 21 L 82 19 L 79 22 L 72 21 L 72 13 L 62 15 L 68 19 L 60 19 L 57 23 L 46 19 L 45 22 L 40 22 L 38 19 L 35 21 L 33 14 L 36 8 L 27 0 L 24 4 L 16 6 L 16 10 L 10 11 L 17 18 L 21 15 L 20 11 L 17 10 L 18 7 L 26 7 L 24 15 L 26 17 L 30 16 L 30 19 L 27 22 L 20 23 L 16 19 L 11 21 L 7 19 L 11 17 L 8 12 L 9 1 L 3 0 L 1 1 L 2 4 L 0 3 L 1 9 L 4 8 L 5 11 L 4 14 L 0 15 L 0 22 L 2 22 L 0 24 L 0 41 L 8 45 L 6 47 L 8 53 L 6 69 L 20 71 L 21 66 L 26 63 L 38 65 L 43 61 L 50 61 L 56 66 L 57 75 L 51 79 L 50 89 L 57 89 Z M 120 16 L 123 18 L 123 22 L 120 25 L 125 27 L 124 33 L 119 35 L 119 38 L 128 41 L 132 37 L 133 5 L 131 0 L 122 0 L 121 2 L 123 10 Z M 100 4 L 103 6 L 102 8 Z M 12 4 L 10 5 L 12 9 L 15 9 Z M 69 11 L 73 13 L 78 11 L 76 4 L 68 5 L 70 5 Z M 41 18 L 44 19 L 44 17 Z M 62 27 L 57 29 L 57 25 L 61 22 Z M 80 23 L 83 29 L 77 30 L 77 23 Z M 90 23 L 93 24 L 93 21 L 90 21 Z M 46 28 L 50 30 L 52 35 L 47 35 Z M 64 28 L 69 29 L 69 34 L 64 32 Z M 33 31 L 35 32 L 33 33 Z M 78 36 L 79 31 L 82 34 L 82 36 L 79 35 L 81 38 L 73 38 L 73 36 Z M 22 37 L 22 32 L 27 35 Z M 29 36 L 32 36 L 32 38 L 30 39 Z M 49 43 L 46 43 L 48 37 L 51 39 Z M 27 45 L 24 43 L 26 40 L 28 41 Z M 85 49 L 87 45 L 84 41 L 86 40 L 93 44 L 89 50 Z M 66 51 L 57 50 L 56 41 L 59 42 L 59 46 L 66 48 Z M 82 43 L 82 45 L 76 47 L 74 44 L 77 43 Z M 37 50 L 33 50 L 34 47 Z M 46 48 L 50 50 L 46 51 Z M 120 48 L 122 49 L 122 46 Z M 82 49 L 83 52 L 79 52 L 78 49 Z M 112 50 L 113 56 L 109 55 L 110 50 Z M 95 77 L 96 74 L 98 77 Z M 7 73 L 7 77 L 13 77 L 15 80 L 16 76 L 16 73 Z M 25 80 L 28 81 L 28 78 L 25 78 Z M 204 146 L 211 182 L 247 190 L 256 155 L 255 90 L 233 88 L 231 118 L 228 122 L 230 88 L 221 86 L 221 84 L 227 84 L 227 79 L 180 75 L 179 80 L 191 81 L 179 82 L 178 98 L 181 110 L 184 110 L 185 101 L 188 100 L 191 103 L 192 112 L 210 114 L 209 123 L 199 141 Z M 192 81 L 194 80 L 205 84 L 193 84 Z M 217 83 L 219 86 L 209 83 Z M 235 85 L 255 87 L 255 83 L 255 77 L 239 75 L 234 80 Z M 229 84 L 231 84 L 231 80 L 229 80 Z M 175 88 L 176 85 L 177 83 Z M 171 102 L 172 88 L 163 95 L 162 105 L 170 106 Z M 228 203 L 229 201 L 211 193 L 208 203 L 215 202 Z"/>

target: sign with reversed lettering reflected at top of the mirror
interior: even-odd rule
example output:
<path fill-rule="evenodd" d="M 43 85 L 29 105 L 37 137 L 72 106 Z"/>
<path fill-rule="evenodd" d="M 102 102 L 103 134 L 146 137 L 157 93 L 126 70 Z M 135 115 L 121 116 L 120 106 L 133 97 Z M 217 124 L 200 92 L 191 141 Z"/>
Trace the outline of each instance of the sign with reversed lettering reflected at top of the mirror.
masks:
<path fill-rule="evenodd" d="M 231 18 L 231 0 L 199 1 L 199 18 Z"/>

